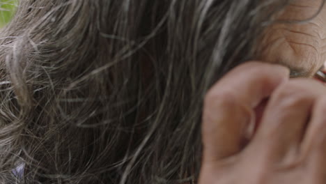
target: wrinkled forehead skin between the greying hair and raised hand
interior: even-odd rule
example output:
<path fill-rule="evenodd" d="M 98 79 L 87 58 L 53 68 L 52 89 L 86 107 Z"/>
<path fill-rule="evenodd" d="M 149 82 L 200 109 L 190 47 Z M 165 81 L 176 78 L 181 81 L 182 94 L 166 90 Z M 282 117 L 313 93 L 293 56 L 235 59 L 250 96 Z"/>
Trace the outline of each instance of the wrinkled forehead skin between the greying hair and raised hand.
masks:
<path fill-rule="evenodd" d="M 323 17 L 325 1 L 293 1 L 263 32 L 258 40 L 257 58 L 287 66 L 291 77 L 313 77 L 326 61 Z"/>

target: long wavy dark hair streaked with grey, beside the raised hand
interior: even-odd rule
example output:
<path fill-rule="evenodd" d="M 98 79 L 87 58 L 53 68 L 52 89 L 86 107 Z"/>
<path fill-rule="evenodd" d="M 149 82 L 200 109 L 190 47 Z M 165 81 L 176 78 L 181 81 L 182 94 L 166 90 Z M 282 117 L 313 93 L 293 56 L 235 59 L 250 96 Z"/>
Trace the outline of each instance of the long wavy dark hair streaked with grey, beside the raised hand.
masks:
<path fill-rule="evenodd" d="M 0 33 L 0 182 L 196 182 L 205 92 L 286 3 L 20 0 Z"/>

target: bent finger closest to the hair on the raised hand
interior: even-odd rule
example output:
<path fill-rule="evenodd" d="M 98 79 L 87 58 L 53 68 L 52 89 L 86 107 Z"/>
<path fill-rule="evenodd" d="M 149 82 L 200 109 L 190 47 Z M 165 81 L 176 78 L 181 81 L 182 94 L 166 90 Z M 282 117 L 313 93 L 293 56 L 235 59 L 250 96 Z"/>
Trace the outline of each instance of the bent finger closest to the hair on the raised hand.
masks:
<path fill-rule="evenodd" d="M 254 107 L 288 79 L 284 66 L 248 62 L 228 72 L 208 91 L 203 107 L 203 159 L 238 153 Z"/>

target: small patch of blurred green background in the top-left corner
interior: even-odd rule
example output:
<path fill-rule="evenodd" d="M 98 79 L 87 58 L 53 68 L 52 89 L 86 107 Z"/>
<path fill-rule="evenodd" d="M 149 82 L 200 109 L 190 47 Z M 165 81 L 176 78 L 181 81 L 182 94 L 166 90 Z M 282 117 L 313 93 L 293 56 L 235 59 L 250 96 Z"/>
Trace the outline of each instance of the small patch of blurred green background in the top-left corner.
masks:
<path fill-rule="evenodd" d="M 10 22 L 15 14 L 17 5 L 18 0 L 0 0 L 0 27 Z"/>

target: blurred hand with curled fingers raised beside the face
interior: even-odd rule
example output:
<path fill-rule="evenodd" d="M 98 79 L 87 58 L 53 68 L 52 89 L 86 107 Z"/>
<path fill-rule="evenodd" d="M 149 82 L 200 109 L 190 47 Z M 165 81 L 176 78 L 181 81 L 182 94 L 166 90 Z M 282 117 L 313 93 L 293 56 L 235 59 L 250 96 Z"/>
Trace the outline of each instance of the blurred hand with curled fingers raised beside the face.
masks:
<path fill-rule="evenodd" d="M 326 87 L 288 75 L 283 66 L 248 62 L 208 91 L 199 184 L 326 183 Z M 258 130 L 244 146 L 250 123 Z"/>

